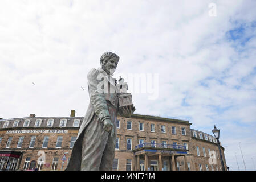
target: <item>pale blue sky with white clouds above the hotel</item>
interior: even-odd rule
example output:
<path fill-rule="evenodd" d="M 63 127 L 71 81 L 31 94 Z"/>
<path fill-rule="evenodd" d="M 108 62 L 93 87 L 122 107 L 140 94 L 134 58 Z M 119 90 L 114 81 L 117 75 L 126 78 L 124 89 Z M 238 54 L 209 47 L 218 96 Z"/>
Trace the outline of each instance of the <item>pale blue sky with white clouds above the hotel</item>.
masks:
<path fill-rule="evenodd" d="M 188 119 L 209 134 L 216 125 L 230 170 L 238 170 L 235 154 L 245 169 L 239 142 L 254 170 L 255 7 L 253 0 L 2 0 L 0 118 L 71 109 L 83 117 L 87 73 L 112 51 L 120 56 L 114 77 L 126 78 L 136 113 Z M 136 86 L 138 75 L 147 84 Z"/>

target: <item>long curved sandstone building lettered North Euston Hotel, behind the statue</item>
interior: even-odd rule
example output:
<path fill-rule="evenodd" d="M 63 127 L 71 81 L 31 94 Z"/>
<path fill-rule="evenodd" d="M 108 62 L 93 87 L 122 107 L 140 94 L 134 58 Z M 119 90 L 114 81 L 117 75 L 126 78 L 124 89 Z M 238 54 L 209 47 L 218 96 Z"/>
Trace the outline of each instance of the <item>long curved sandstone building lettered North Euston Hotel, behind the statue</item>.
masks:
<path fill-rule="evenodd" d="M 133 114 L 117 117 L 113 170 L 216 171 L 217 140 L 189 121 Z M 0 170 L 64 170 L 83 117 L 0 118 Z M 224 148 L 221 146 L 225 170 Z"/>

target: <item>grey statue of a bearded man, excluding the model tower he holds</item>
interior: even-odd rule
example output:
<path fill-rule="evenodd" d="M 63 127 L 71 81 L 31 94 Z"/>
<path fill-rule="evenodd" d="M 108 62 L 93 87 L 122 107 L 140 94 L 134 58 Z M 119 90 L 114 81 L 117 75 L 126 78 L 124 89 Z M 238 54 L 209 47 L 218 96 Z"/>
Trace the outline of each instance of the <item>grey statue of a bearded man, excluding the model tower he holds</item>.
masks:
<path fill-rule="evenodd" d="M 78 131 L 66 170 L 112 170 L 116 144 L 116 118 L 130 117 L 135 107 L 119 108 L 116 81 L 112 78 L 119 56 L 105 52 L 100 57 L 101 68 L 88 73 L 90 103 Z"/>

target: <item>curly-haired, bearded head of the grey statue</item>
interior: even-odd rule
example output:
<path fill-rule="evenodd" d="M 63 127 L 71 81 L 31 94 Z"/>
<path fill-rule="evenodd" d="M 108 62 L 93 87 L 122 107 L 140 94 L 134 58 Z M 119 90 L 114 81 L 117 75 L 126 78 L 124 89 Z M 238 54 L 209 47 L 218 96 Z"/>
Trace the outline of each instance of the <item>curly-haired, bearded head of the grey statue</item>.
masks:
<path fill-rule="evenodd" d="M 100 57 L 101 68 L 108 74 L 113 74 L 116 70 L 119 56 L 112 52 L 104 52 Z"/>

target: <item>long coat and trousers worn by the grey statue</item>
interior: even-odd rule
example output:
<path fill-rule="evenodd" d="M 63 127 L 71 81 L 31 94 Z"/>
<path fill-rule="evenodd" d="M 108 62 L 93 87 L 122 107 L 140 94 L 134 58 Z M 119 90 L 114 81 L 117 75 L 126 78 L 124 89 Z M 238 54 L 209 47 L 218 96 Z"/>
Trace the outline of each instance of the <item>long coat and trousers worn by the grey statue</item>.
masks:
<path fill-rule="evenodd" d="M 111 150 L 105 151 L 111 154 L 104 155 L 109 155 L 108 160 L 111 160 L 111 164 L 107 164 L 108 167 L 103 169 L 111 170 L 112 160 L 115 155 L 116 117 L 119 106 L 117 93 L 115 92 L 115 80 L 102 68 L 91 69 L 87 78 L 90 103 L 78 131 L 78 137 L 73 146 L 71 158 L 66 170 L 101 170 L 99 167 L 101 165 L 101 157 L 107 147 L 111 147 Z M 114 88 L 114 91 L 112 89 L 113 92 L 99 92 L 100 88 L 103 88 L 103 80 L 107 80 L 108 87 L 112 86 L 112 88 Z M 104 117 L 111 117 L 111 121 L 114 125 L 112 138 L 111 133 L 107 133 L 107 131 L 103 129 L 104 125 L 101 122 L 101 118 Z M 109 142 L 110 138 L 111 141 Z M 86 148 L 87 146 L 90 147 Z M 88 155 L 82 154 L 82 148 L 86 151 L 84 153 L 88 153 Z"/>

